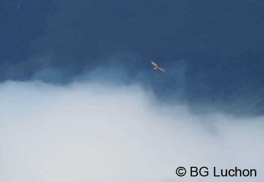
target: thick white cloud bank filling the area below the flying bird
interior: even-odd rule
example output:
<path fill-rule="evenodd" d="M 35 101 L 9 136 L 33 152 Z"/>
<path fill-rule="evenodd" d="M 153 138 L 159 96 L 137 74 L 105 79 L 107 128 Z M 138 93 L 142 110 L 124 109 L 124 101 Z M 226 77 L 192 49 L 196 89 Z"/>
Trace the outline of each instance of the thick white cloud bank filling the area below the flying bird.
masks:
<path fill-rule="evenodd" d="M 0 108 L 0 181 L 264 179 L 264 117 L 191 114 L 137 85 L 37 81 L 2 83 Z M 191 166 L 209 176 L 190 177 Z M 257 177 L 213 177 L 214 166 L 256 169 Z"/>

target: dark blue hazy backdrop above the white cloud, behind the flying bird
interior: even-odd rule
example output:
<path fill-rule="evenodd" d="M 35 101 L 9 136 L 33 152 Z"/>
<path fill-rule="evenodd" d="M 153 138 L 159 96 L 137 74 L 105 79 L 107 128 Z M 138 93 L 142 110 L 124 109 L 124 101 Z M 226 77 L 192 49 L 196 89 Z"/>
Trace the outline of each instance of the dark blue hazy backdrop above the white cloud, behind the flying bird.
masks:
<path fill-rule="evenodd" d="M 168 101 L 261 116 L 263 3 L 0 1 L 0 81 L 67 84 L 111 66 L 114 82 L 127 73 L 123 83 L 170 93 Z M 151 60 L 167 73 L 150 76 Z"/>

